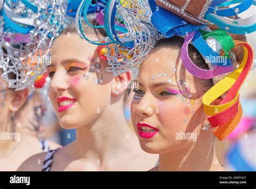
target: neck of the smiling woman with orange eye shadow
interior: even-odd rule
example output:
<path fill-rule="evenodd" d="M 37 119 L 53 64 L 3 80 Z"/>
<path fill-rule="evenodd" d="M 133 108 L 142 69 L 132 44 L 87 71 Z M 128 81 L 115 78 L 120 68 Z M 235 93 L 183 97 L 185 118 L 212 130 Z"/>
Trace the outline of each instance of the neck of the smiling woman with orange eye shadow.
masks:
<path fill-rule="evenodd" d="M 126 123 L 123 106 L 112 104 L 92 125 L 77 129 L 77 138 L 73 143 L 79 157 L 105 161 L 133 149 L 136 136 Z M 117 157 L 116 157 L 117 158 Z"/>

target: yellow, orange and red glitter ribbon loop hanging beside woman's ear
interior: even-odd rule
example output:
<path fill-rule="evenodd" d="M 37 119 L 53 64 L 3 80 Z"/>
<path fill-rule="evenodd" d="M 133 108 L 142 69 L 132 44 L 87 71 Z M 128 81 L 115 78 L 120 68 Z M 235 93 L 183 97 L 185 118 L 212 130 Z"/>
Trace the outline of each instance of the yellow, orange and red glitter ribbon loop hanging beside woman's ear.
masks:
<path fill-rule="evenodd" d="M 208 90 L 202 99 L 205 113 L 213 116 L 209 117 L 208 121 L 215 127 L 213 133 L 219 140 L 226 138 L 241 119 L 242 108 L 239 103 L 239 89 L 244 83 L 253 62 L 253 49 L 249 44 L 236 42 L 235 45 L 242 46 L 244 49 L 244 58 L 240 66 Z M 226 91 L 228 92 L 219 105 L 211 105 L 215 99 Z"/>

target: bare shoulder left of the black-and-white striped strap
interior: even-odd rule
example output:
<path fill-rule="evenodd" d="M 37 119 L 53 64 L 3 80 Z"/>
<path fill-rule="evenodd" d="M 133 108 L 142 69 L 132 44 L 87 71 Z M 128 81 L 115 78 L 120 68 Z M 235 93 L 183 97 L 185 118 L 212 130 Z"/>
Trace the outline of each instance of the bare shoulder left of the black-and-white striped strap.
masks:
<path fill-rule="evenodd" d="M 48 152 L 37 153 L 26 159 L 17 171 L 42 171 L 44 159 Z"/>

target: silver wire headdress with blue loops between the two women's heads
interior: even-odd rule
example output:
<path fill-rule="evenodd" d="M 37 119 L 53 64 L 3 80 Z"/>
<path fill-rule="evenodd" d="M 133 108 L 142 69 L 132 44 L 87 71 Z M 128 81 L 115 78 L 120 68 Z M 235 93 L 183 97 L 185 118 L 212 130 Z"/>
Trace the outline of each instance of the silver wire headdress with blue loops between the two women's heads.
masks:
<path fill-rule="evenodd" d="M 101 26 L 108 37 L 97 41 L 87 38 L 82 28 L 81 13 L 87 12 L 86 5 L 90 2 L 83 1 L 77 12 L 76 26 L 80 37 L 96 45 L 106 45 L 105 56 L 111 66 L 107 71 L 113 71 L 114 76 L 140 65 L 162 37 L 151 24 L 152 11 L 148 1 L 110 1 L 104 11 L 104 25 Z M 84 14 L 85 21 L 86 16 Z M 93 27 L 92 24 L 90 26 Z"/>

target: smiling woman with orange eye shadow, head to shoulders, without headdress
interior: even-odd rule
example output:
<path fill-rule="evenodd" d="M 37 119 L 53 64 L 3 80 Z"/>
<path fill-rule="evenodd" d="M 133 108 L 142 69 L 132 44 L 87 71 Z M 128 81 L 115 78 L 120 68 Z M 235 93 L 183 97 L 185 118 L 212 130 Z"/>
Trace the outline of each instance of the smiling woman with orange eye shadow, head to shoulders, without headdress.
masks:
<path fill-rule="evenodd" d="M 84 30 L 93 39 L 105 35 Z M 146 171 L 156 164 L 158 156 L 140 149 L 124 117 L 130 91 L 120 84 L 130 83 L 132 74 L 107 72 L 101 48 L 80 39 L 75 25 L 55 40 L 49 97 L 60 126 L 77 129 L 76 141 L 32 156 L 19 171 Z"/>

